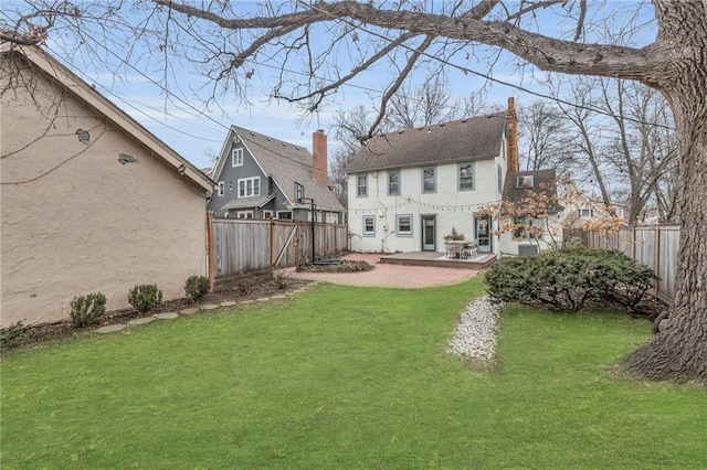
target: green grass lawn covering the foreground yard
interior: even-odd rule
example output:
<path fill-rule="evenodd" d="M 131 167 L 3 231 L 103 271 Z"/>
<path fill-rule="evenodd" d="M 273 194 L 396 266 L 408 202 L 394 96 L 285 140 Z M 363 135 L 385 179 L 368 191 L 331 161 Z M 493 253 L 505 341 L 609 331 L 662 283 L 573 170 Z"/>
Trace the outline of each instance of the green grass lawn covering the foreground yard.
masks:
<path fill-rule="evenodd" d="M 648 322 L 510 308 L 482 373 L 444 352 L 482 290 L 319 285 L 10 352 L 1 466 L 707 468 L 705 389 L 612 372 Z"/>

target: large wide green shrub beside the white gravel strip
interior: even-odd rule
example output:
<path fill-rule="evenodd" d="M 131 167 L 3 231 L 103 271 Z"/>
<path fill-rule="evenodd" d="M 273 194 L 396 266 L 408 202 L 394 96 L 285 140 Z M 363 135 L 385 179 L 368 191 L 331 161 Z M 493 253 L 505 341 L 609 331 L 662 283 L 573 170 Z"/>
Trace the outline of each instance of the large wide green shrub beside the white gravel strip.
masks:
<path fill-rule="evenodd" d="M 505 258 L 486 274 L 495 300 L 572 312 L 597 303 L 634 312 L 652 279 L 648 267 L 621 252 L 577 246 Z"/>

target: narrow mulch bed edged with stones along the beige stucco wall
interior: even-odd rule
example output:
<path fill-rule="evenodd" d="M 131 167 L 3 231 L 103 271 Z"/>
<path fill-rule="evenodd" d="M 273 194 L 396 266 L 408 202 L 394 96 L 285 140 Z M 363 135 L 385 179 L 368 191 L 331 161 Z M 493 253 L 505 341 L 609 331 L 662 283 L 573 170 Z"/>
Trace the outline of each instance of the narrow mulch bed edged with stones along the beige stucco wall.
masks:
<path fill-rule="evenodd" d="M 143 317 L 151 317 L 155 313 L 178 312 L 183 309 L 199 307 L 199 305 L 221 303 L 226 301 L 255 300 L 263 297 L 283 295 L 297 290 L 310 281 L 289 278 L 258 278 L 257 281 L 240 284 L 238 287 L 219 292 L 208 293 L 200 302 L 189 298 L 169 300 L 160 303 L 148 312 L 139 312 L 133 308 L 106 312 L 88 328 L 74 328 L 71 320 L 56 323 L 42 323 L 28 327 L 24 335 L 8 340 L 3 350 L 35 346 L 49 340 L 78 337 L 94 331 L 96 328 L 116 323 L 127 323 L 130 320 Z"/>

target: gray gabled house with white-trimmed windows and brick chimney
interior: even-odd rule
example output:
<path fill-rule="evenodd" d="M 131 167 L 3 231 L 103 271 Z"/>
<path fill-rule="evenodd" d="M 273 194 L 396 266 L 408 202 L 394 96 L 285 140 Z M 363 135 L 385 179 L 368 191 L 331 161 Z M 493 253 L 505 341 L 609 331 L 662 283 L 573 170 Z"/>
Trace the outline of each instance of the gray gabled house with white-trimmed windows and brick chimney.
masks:
<path fill-rule="evenodd" d="M 313 135 L 313 153 L 231 126 L 212 172 L 217 189 L 208 210 L 215 217 L 312 220 L 342 224 L 344 206 L 330 189 L 327 137 Z"/>

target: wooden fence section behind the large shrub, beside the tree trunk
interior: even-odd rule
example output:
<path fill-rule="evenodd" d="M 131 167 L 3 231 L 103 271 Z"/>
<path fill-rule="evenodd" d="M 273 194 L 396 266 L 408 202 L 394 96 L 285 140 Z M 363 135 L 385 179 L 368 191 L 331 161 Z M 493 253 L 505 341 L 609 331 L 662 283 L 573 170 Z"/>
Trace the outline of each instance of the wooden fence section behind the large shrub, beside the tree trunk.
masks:
<path fill-rule="evenodd" d="M 672 303 L 675 299 L 679 225 L 636 225 L 621 227 L 618 234 L 583 232 L 590 248 L 618 249 L 653 268 L 657 281 L 655 296 Z"/>

